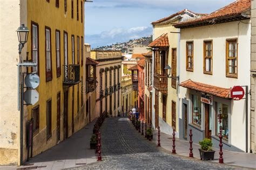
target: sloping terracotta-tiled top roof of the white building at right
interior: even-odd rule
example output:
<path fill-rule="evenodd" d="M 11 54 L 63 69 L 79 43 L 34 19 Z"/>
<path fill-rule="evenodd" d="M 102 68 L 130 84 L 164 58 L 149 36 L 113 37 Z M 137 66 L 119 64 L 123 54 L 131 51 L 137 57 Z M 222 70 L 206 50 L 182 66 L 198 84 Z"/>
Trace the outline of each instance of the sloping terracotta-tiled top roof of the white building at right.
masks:
<path fill-rule="evenodd" d="M 207 22 L 208 24 L 214 24 L 215 19 L 241 16 L 242 13 L 247 12 L 250 9 L 251 9 L 251 0 L 237 0 L 225 6 L 224 8 L 221 8 L 217 11 L 212 12 L 210 15 L 207 15 L 198 19 L 187 20 L 186 22 L 181 22 L 174 26 L 182 27 L 182 26 L 189 26 L 189 25 L 204 23 L 204 22 Z"/>

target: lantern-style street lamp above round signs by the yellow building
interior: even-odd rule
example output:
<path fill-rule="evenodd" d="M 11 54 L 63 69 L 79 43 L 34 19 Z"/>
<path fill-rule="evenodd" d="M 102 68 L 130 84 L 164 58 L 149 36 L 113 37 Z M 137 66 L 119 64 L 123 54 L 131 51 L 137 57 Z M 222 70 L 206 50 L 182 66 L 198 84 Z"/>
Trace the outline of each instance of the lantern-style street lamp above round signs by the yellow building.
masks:
<path fill-rule="evenodd" d="M 20 27 L 18 27 L 17 34 L 18 34 L 18 40 L 19 40 L 19 54 L 21 54 L 22 48 L 28 41 L 28 37 L 29 37 L 28 27 L 22 24 Z"/>

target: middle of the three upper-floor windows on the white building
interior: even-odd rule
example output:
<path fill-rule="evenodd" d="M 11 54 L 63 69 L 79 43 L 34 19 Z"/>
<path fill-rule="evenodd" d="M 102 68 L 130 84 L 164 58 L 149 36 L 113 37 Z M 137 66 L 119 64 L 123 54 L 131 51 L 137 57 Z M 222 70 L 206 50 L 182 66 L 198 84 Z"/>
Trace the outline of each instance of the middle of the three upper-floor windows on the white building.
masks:
<path fill-rule="evenodd" d="M 212 74 L 212 41 L 204 41 L 204 73 Z"/>

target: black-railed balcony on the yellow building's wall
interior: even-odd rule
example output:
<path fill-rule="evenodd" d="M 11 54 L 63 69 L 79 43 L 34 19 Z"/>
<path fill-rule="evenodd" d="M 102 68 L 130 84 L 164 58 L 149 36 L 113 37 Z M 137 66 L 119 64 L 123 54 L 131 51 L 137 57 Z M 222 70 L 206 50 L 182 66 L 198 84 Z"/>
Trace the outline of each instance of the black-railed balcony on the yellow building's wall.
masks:
<path fill-rule="evenodd" d="M 73 86 L 80 82 L 80 65 L 64 65 L 64 80 L 66 86 Z"/>

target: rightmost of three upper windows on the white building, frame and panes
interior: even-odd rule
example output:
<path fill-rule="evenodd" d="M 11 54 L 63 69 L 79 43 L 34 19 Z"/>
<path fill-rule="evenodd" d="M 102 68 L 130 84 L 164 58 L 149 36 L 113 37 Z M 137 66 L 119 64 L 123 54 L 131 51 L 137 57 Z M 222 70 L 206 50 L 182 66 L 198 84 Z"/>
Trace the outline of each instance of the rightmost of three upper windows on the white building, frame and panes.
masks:
<path fill-rule="evenodd" d="M 237 78 L 238 42 L 237 39 L 226 41 L 226 76 Z"/>

